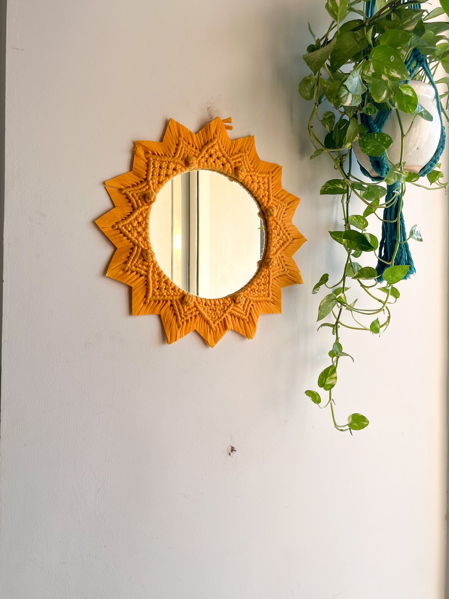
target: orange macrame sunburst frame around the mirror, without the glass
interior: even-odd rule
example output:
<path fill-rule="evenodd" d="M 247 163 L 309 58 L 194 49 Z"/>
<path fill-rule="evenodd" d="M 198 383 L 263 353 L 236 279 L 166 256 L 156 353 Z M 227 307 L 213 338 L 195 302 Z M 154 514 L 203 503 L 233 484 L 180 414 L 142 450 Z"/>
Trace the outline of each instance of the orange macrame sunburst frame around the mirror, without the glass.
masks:
<path fill-rule="evenodd" d="M 198 331 L 210 346 L 233 329 L 253 338 L 259 314 L 281 312 L 281 288 L 302 283 L 293 254 L 305 238 L 292 223 L 299 198 L 281 185 L 282 167 L 257 156 L 254 137 L 231 141 L 230 119 L 214 119 L 196 135 L 170 119 L 162 143 L 136 141 L 131 173 L 106 181 L 115 208 L 96 224 L 117 247 L 107 276 L 132 287 L 132 314 L 160 314 L 168 343 Z M 265 222 L 265 253 L 253 279 L 232 295 L 205 299 L 180 289 L 160 269 L 148 223 L 161 187 L 205 168 L 236 179 L 256 199 Z"/>

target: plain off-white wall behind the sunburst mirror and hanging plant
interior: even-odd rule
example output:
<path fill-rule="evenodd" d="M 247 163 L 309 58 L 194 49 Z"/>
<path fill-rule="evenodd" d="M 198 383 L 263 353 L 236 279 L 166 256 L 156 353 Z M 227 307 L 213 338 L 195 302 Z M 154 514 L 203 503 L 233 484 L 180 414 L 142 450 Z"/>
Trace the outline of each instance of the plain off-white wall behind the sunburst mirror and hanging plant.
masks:
<path fill-rule="evenodd" d="M 344 337 L 338 414 L 368 429 L 339 434 L 304 396 L 330 349 L 311 288 L 341 259 L 297 92 L 323 4 L 8 1 L 2 599 L 443 597 L 443 194 L 406 199 L 424 243 L 388 334 Z M 303 198 L 305 285 L 253 341 L 168 346 L 104 276 L 93 220 L 134 140 L 214 116 Z"/>

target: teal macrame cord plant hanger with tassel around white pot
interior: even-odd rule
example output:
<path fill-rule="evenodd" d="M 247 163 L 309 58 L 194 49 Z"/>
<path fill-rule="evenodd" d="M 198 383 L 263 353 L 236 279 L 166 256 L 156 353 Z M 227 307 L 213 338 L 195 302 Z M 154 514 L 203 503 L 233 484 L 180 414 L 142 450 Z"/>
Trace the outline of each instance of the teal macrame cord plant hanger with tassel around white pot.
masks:
<path fill-rule="evenodd" d="M 412 4 L 412 8 L 421 8 L 420 4 Z M 368 0 L 366 4 L 366 16 L 372 17 L 374 16 L 375 11 L 375 0 Z M 446 134 L 444 130 L 442 115 L 441 115 L 441 102 L 438 95 L 438 89 L 436 88 L 435 81 L 433 80 L 432 73 L 430 72 L 429 64 L 427 63 L 426 56 L 423 56 L 420 51 L 415 48 L 412 50 L 412 53 L 409 59 L 406 61 L 405 66 L 410 75 L 410 79 L 412 79 L 419 68 L 422 68 L 426 73 L 427 78 L 429 79 L 430 85 L 432 85 L 435 90 L 435 99 L 436 99 L 436 108 L 438 109 L 439 120 L 441 122 L 441 135 L 439 138 L 438 147 L 435 150 L 435 154 L 432 156 L 429 162 L 427 162 L 426 166 L 421 168 L 419 172 L 419 176 L 423 177 L 427 173 L 433 170 L 436 167 L 436 164 L 439 161 L 439 158 L 444 150 L 444 145 L 446 141 Z M 366 125 L 371 133 L 378 133 L 382 131 L 384 125 L 392 113 L 393 108 L 390 108 L 389 111 L 379 110 L 374 119 L 371 119 L 367 114 L 360 114 L 360 122 L 363 125 Z M 378 174 L 378 177 L 372 177 L 368 171 L 363 168 L 363 166 L 359 163 L 360 170 L 366 176 L 372 179 L 373 181 L 381 181 L 386 176 L 388 171 L 390 170 L 389 162 L 387 161 L 387 157 L 385 154 L 382 156 L 378 156 L 374 158 L 372 156 L 369 157 L 369 161 L 371 162 L 371 166 L 375 173 Z M 396 218 L 398 217 L 398 207 L 399 207 L 399 195 L 401 193 L 401 183 L 396 181 L 392 185 L 387 185 L 387 195 L 386 195 L 386 204 L 387 207 L 384 209 L 383 214 L 383 223 L 382 223 L 382 236 L 379 243 L 379 253 L 378 253 L 378 262 L 377 262 L 377 273 L 380 275 L 378 280 L 382 280 L 382 274 L 386 268 L 389 267 L 389 262 L 392 261 L 393 253 L 396 247 L 396 240 L 398 238 L 398 225 L 396 222 Z M 408 265 L 410 268 L 408 269 L 408 273 L 406 274 L 405 279 L 411 274 L 415 273 L 415 267 L 413 264 L 413 259 L 410 253 L 410 249 L 408 247 L 408 242 L 405 241 L 407 238 L 404 215 L 399 215 L 400 219 L 400 239 L 401 243 L 399 244 L 398 253 L 396 253 L 395 257 L 395 265 Z"/>

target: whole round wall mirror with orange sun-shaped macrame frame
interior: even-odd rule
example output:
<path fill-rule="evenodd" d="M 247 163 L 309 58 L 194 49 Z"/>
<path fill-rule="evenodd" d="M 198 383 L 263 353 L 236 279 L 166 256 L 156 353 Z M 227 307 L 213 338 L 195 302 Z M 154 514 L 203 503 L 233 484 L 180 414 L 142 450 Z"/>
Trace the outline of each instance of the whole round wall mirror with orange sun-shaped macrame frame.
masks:
<path fill-rule="evenodd" d="M 229 329 L 253 338 L 259 314 L 281 312 L 281 288 L 302 283 L 299 198 L 253 137 L 230 140 L 229 123 L 195 135 L 171 119 L 162 143 L 136 141 L 131 173 L 105 183 L 107 276 L 132 287 L 132 314 L 160 314 L 168 343 L 194 330 L 210 346 Z"/>

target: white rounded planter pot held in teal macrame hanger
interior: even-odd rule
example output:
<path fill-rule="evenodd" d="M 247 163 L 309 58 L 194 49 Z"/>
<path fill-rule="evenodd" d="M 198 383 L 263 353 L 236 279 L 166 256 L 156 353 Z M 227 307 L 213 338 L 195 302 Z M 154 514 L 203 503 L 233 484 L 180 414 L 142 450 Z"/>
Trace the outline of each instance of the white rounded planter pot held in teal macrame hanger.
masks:
<path fill-rule="evenodd" d="M 416 117 L 411 131 L 404 140 L 404 159 L 406 162 L 404 168 L 406 171 L 418 173 L 435 154 L 441 134 L 441 123 L 439 122 L 438 110 L 436 110 L 433 87 L 422 81 L 409 81 L 409 86 L 415 90 L 421 106 L 433 116 L 432 121 L 421 119 L 419 116 Z M 404 131 L 408 130 L 413 117 L 413 114 L 401 113 Z M 396 119 L 394 113 L 387 119 L 383 131 L 393 139 L 393 145 L 388 150 L 388 156 L 392 162 L 397 164 L 401 159 L 401 129 L 399 129 L 398 119 Z M 370 175 L 377 177 L 378 174 L 373 170 L 368 156 L 360 150 L 357 141 L 353 144 L 353 149 L 360 164 L 366 168 Z"/>

